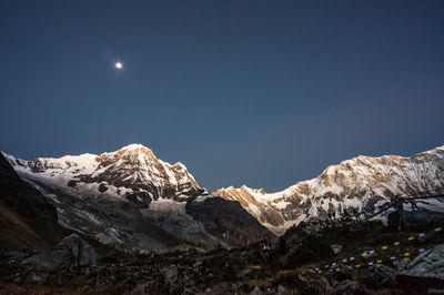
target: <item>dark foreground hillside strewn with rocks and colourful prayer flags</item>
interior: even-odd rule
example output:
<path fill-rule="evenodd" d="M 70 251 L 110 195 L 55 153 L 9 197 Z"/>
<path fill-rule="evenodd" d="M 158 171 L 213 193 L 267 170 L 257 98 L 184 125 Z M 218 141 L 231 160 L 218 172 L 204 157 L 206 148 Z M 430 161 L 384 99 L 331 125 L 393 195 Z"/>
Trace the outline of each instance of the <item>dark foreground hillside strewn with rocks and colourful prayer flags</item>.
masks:
<path fill-rule="evenodd" d="M 376 222 L 321 231 L 299 226 L 275 244 L 152 257 L 114 254 L 98 265 L 52 272 L 23 264 L 30 253 L 14 252 L 1 257 L 0 289 L 4 294 L 424 294 L 444 286 L 443 220 L 410 232 L 391 232 Z M 341 248 L 337 254 L 332 245 Z"/>

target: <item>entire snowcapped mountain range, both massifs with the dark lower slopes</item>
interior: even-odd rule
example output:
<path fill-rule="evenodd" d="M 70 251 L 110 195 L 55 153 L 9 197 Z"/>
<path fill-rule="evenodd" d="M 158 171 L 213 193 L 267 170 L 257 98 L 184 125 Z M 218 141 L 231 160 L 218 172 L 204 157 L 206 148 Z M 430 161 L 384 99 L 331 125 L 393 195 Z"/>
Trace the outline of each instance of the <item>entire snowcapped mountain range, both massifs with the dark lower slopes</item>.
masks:
<path fill-rule="evenodd" d="M 373 213 L 393 195 L 444 192 L 444 146 L 410 157 L 357 156 L 282 192 L 231 186 L 212 195 L 184 165 L 163 162 L 140 144 L 101 155 L 4 156 L 57 207 L 61 225 L 132 252 L 243 245 L 273 238 L 265 227 L 280 235 L 327 212 Z M 440 199 L 420 206 L 444 211 Z"/>

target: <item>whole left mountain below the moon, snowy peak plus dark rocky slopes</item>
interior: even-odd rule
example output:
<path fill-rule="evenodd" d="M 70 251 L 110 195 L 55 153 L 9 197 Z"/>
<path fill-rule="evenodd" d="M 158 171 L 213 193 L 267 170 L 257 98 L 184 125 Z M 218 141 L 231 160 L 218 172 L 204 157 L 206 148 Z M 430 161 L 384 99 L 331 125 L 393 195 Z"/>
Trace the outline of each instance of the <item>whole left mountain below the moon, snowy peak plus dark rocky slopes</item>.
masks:
<path fill-rule="evenodd" d="M 238 202 L 219 202 L 219 223 L 201 214 L 214 207 L 214 196 L 184 165 L 163 162 L 140 144 L 101 155 L 6 157 L 57 207 L 63 227 L 122 251 L 229 247 L 273 238 Z M 238 218 L 229 214 L 233 207 Z"/>

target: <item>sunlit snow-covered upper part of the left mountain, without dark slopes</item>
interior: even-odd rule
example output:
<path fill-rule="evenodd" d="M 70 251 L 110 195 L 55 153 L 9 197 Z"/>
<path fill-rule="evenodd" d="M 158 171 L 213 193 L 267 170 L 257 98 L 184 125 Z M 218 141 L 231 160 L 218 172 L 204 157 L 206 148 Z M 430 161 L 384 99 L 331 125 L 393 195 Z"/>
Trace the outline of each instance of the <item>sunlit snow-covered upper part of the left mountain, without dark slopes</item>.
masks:
<path fill-rule="evenodd" d="M 113 186 L 122 196 L 139 194 L 138 197 L 148 203 L 159 197 L 199 195 L 204 191 L 182 163 L 163 162 L 142 144 L 130 144 L 100 155 L 87 153 L 30 161 L 4 156 L 23 179 L 67 189 L 90 186 L 89 191 L 102 184 L 102 190 Z"/>

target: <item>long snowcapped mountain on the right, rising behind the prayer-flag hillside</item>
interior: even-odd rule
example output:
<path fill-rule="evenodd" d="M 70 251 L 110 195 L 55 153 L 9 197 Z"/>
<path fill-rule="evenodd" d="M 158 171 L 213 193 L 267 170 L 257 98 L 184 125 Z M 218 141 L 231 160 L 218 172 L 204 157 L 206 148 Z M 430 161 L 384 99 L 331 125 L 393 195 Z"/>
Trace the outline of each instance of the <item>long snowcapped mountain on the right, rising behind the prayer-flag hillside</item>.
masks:
<path fill-rule="evenodd" d="M 356 208 L 373 213 L 393 195 L 444 192 L 444 146 L 410 157 L 357 156 L 331 165 L 321 175 L 276 193 L 246 186 L 221 189 L 213 195 L 239 201 L 274 234 L 302 221 L 326 218 L 327 212 Z M 444 211 L 442 199 L 423 200 L 428 210 Z"/>

